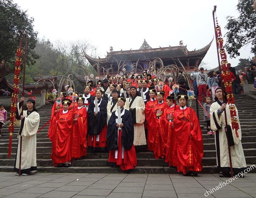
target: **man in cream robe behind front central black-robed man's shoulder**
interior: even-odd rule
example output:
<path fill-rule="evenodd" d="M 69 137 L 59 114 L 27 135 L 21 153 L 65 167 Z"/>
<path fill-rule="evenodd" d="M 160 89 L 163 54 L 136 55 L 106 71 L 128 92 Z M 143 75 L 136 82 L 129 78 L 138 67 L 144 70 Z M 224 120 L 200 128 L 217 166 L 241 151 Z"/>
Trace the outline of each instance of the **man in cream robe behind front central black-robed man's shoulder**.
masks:
<path fill-rule="evenodd" d="M 144 129 L 145 121 L 145 103 L 143 98 L 138 96 L 137 88 L 132 86 L 130 89 L 131 97 L 126 99 L 125 108 L 129 109 L 134 124 L 134 146 L 146 145 L 146 136 Z"/>

